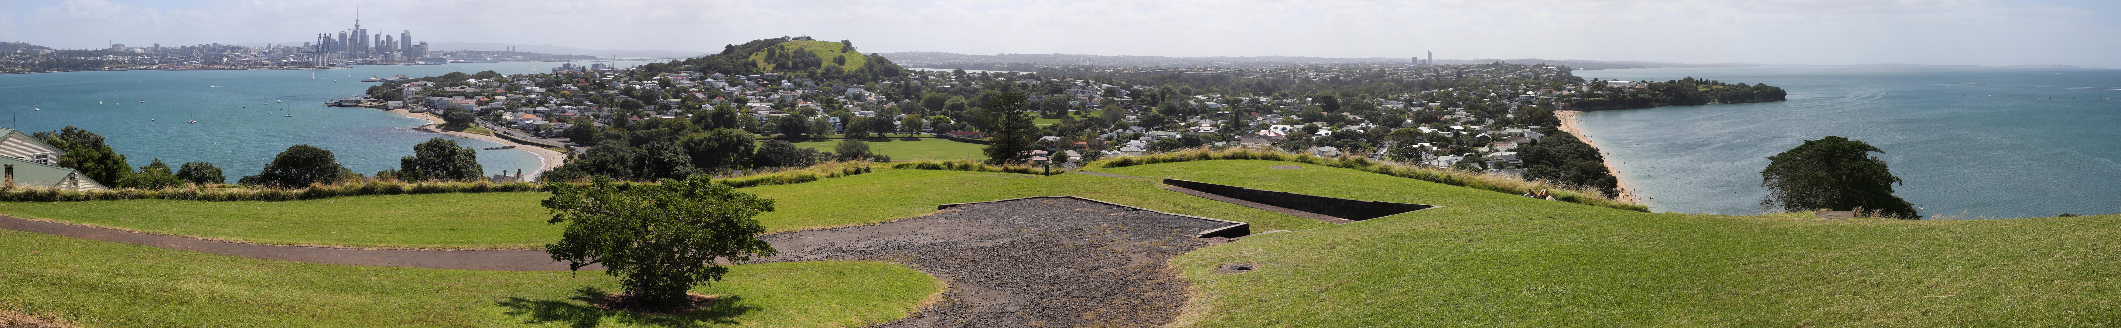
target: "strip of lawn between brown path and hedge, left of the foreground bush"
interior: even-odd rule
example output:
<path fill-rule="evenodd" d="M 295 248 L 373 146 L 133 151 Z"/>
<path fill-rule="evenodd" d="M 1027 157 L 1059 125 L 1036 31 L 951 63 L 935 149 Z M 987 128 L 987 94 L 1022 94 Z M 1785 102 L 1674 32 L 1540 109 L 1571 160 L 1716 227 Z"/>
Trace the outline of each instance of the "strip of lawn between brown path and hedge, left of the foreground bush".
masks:
<path fill-rule="evenodd" d="M 560 239 L 547 193 L 443 193 L 316 201 L 0 201 L 0 214 L 221 237 L 354 248 L 543 248 Z"/>

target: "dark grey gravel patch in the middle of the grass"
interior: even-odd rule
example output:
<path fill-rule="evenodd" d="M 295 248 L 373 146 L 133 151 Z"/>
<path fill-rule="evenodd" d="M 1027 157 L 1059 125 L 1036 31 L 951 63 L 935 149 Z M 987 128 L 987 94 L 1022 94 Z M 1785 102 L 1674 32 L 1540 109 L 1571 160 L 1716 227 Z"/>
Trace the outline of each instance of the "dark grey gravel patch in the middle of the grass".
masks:
<path fill-rule="evenodd" d="M 1080 197 L 950 203 L 882 224 L 766 235 L 781 260 L 901 262 L 950 284 L 942 300 L 887 328 L 1162 326 L 1188 284 L 1167 262 L 1245 222 Z"/>

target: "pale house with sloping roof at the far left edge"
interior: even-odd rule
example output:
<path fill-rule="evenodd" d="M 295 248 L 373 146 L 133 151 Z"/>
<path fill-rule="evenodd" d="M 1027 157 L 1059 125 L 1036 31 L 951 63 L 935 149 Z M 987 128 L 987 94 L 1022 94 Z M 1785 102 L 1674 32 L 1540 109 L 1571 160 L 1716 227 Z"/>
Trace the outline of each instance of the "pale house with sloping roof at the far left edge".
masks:
<path fill-rule="evenodd" d="M 0 169 L 6 174 L 6 186 L 66 190 L 108 188 L 74 169 L 59 167 L 59 154 L 66 152 L 45 144 L 42 140 L 30 138 L 30 133 L 0 127 Z"/>

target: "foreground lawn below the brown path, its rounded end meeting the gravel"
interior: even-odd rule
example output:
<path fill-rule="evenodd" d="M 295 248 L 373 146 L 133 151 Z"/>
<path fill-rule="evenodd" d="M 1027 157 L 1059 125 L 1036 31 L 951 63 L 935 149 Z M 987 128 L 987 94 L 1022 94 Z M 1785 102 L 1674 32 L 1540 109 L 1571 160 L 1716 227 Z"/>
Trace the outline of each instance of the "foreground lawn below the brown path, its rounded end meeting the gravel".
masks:
<path fill-rule="evenodd" d="M 600 271 L 437 271 L 252 260 L 0 231 L 0 313 L 78 326 L 867 326 L 904 317 L 933 277 L 889 262 L 736 265 L 687 315 L 585 303 Z M 861 284 L 846 284 L 861 281 Z"/>

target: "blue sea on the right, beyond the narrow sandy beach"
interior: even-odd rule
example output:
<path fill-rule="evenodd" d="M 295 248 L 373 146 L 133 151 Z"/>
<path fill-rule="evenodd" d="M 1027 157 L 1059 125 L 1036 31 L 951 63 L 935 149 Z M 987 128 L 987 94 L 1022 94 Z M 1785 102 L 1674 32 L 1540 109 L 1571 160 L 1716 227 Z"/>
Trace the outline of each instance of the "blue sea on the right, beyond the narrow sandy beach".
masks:
<path fill-rule="evenodd" d="M 1754 214 L 1767 157 L 1864 140 L 1922 214 L 1992 218 L 2121 212 L 2121 70 L 1650 68 L 1584 78 L 1767 83 L 1788 102 L 1578 114 L 1657 212 Z"/>

